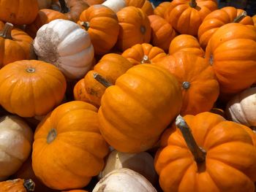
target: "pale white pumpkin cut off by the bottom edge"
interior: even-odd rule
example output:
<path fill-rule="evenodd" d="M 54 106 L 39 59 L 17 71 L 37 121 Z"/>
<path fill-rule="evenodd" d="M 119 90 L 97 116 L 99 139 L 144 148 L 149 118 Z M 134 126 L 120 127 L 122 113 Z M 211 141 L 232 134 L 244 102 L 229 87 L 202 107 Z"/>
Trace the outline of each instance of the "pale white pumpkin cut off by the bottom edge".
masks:
<path fill-rule="evenodd" d="M 103 177 L 92 192 L 157 192 L 154 186 L 132 169 L 115 169 Z"/>

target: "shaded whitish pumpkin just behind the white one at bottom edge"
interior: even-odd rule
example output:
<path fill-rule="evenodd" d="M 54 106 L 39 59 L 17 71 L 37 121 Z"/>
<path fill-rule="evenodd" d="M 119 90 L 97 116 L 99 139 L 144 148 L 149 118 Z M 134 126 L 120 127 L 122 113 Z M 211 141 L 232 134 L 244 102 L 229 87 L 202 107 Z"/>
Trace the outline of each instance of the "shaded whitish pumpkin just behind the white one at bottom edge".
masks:
<path fill-rule="evenodd" d="M 152 184 L 156 184 L 158 177 L 154 170 L 154 158 L 146 152 L 121 153 L 117 150 L 111 151 L 105 161 L 105 167 L 99 174 L 99 179 L 105 177 L 114 169 L 128 168 L 142 174 Z"/>

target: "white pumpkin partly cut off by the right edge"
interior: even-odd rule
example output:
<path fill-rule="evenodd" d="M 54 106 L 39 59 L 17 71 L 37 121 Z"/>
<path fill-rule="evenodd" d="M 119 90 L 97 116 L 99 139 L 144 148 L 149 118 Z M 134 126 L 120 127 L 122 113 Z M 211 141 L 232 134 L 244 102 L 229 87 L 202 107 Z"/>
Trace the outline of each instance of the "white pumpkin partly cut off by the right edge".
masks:
<path fill-rule="evenodd" d="M 226 115 L 245 126 L 256 126 L 256 88 L 248 88 L 230 99 Z"/>

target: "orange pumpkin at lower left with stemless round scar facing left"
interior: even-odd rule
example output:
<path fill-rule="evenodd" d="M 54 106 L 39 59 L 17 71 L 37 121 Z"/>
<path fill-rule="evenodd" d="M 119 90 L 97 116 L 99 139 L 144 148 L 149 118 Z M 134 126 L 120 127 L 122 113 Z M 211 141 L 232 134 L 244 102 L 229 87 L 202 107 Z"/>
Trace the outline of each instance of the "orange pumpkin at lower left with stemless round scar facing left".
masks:
<path fill-rule="evenodd" d="M 37 126 L 32 167 L 49 188 L 83 188 L 103 169 L 107 154 L 108 145 L 98 128 L 97 108 L 83 101 L 69 101 L 56 107 Z"/>

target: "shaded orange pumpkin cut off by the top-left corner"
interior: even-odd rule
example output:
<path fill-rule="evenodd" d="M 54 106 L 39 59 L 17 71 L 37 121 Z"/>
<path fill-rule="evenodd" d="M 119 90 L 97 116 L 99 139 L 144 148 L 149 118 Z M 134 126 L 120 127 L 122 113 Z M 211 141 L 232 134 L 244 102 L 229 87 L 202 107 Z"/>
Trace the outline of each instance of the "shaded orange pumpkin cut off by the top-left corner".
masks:
<path fill-rule="evenodd" d="M 16 25 L 29 24 L 37 17 L 38 9 L 37 0 L 1 0 L 0 20 Z"/>

